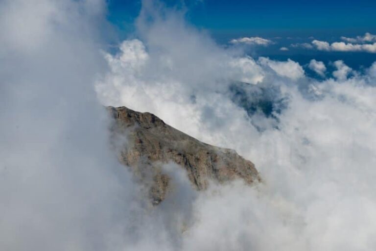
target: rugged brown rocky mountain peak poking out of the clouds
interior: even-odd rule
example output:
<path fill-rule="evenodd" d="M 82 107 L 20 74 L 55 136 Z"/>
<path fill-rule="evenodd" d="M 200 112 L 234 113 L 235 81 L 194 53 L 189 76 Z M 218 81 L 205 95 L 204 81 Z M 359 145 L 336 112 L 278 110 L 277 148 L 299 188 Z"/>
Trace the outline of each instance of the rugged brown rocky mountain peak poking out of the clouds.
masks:
<path fill-rule="evenodd" d="M 135 177 L 146 184 L 154 204 L 163 201 L 168 191 L 170 177 L 161 167 L 169 162 L 184 168 L 197 190 L 205 189 L 210 179 L 220 183 L 235 178 L 249 184 L 259 181 L 255 165 L 234 150 L 205 144 L 148 112 L 126 107 L 107 109 L 115 119 L 113 138 L 125 135 L 127 139 L 120 145 L 120 162 L 131 167 Z"/>

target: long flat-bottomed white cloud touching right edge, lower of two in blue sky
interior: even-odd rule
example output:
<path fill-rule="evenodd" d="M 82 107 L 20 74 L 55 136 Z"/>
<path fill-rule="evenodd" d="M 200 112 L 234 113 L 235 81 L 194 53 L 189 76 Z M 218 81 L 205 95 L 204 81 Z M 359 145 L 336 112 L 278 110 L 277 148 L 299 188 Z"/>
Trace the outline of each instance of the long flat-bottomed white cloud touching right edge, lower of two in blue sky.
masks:
<path fill-rule="evenodd" d="M 352 44 L 345 42 L 334 42 L 329 44 L 326 41 L 313 40 L 312 44 L 317 50 L 325 51 L 362 51 L 376 53 L 376 43 L 374 44 Z"/>

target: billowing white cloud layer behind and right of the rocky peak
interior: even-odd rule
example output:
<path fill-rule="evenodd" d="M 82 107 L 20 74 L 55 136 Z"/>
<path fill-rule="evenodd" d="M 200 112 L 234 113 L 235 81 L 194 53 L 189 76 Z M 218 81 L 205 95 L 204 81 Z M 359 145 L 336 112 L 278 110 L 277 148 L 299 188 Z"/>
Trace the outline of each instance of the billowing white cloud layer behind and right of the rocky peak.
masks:
<path fill-rule="evenodd" d="M 375 248 L 375 65 L 360 73 L 336 61 L 334 78 L 318 81 L 292 60 L 220 49 L 205 34 L 176 25 L 184 20 L 175 12 L 162 18 L 143 11 L 152 18 L 139 20 L 147 27 L 141 40 L 120 48 L 139 44 L 144 56 L 128 57 L 124 48 L 107 54 L 111 71 L 97 83 L 100 100 L 153 112 L 200 140 L 233 148 L 264 178 L 257 188 L 235 182 L 200 193 L 192 201 L 192 225 L 177 237 L 179 249 Z M 163 34 L 154 32 L 160 29 Z M 176 44 L 164 42 L 167 34 Z M 189 51 L 184 62 L 181 51 Z M 325 77 L 322 62 L 308 67 Z M 232 84 L 245 79 L 252 85 L 240 83 L 243 100 L 264 95 L 286 104 L 278 110 L 271 101 L 267 117 L 261 112 L 266 103 L 258 100 L 247 112 L 229 95 Z"/>

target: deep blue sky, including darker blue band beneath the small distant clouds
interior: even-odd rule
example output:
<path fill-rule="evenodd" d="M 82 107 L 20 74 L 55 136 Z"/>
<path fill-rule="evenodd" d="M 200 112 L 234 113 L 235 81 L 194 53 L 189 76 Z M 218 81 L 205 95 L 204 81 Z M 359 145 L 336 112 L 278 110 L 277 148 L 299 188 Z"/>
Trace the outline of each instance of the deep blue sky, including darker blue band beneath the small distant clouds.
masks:
<path fill-rule="evenodd" d="M 188 23 L 207 30 L 219 44 L 231 39 L 259 36 L 272 40 L 268 47 L 251 48 L 254 56 L 291 58 L 306 64 L 312 57 L 330 62 L 344 59 L 359 68 L 376 61 L 376 53 L 327 52 L 291 48 L 314 39 L 337 42 L 341 36 L 376 34 L 376 0 L 164 0 L 165 5 L 185 6 Z M 108 19 L 120 39 L 133 31 L 141 0 L 109 0 Z M 278 37 L 278 39 L 276 39 Z M 281 47 L 289 48 L 281 51 Z M 361 63 L 359 63 L 361 61 Z"/>

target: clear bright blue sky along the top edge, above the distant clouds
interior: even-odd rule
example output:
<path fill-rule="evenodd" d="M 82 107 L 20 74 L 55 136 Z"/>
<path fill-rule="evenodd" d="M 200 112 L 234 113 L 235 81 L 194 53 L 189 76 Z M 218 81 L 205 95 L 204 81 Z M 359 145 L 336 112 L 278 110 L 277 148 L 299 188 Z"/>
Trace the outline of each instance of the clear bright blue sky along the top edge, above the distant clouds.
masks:
<path fill-rule="evenodd" d="M 164 2 L 171 6 L 178 1 Z M 188 20 L 216 36 L 359 35 L 376 31 L 375 0 L 186 0 L 185 4 Z M 109 0 L 109 19 L 127 26 L 140 8 L 140 0 Z"/>

